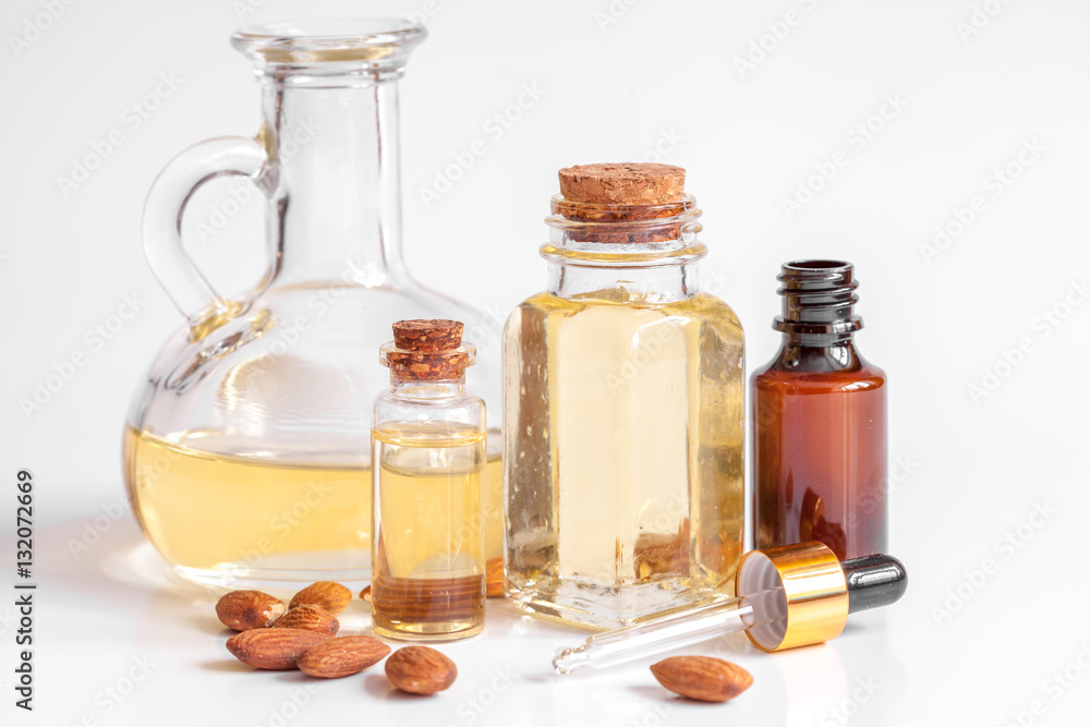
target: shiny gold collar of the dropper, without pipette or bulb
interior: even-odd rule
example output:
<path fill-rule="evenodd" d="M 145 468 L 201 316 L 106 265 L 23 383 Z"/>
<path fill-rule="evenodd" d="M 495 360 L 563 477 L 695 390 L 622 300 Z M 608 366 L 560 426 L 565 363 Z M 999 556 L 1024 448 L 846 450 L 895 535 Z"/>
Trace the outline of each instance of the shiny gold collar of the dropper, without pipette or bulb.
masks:
<path fill-rule="evenodd" d="M 848 621 L 848 584 L 837 560 L 821 543 L 750 550 L 738 564 L 739 596 L 783 587 L 772 620 L 746 631 L 764 652 L 835 639 Z"/>

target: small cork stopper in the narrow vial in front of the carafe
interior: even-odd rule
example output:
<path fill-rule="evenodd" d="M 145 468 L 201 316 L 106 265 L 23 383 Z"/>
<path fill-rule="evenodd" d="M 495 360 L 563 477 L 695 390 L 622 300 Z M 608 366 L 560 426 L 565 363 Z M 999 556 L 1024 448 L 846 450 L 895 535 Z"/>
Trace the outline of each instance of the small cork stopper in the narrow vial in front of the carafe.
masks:
<path fill-rule="evenodd" d="M 402 379 L 458 378 L 476 353 L 472 346 L 462 346 L 463 328 L 458 320 L 398 320 L 393 340 L 382 347 L 379 360 Z"/>

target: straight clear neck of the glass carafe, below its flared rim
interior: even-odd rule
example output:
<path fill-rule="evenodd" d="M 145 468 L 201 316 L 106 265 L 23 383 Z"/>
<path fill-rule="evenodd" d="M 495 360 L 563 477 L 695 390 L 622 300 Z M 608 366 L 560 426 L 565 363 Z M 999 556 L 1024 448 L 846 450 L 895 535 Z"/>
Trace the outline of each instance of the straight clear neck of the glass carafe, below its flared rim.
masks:
<path fill-rule="evenodd" d="M 275 159 L 270 282 L 380 287 L 403 276 L 396 81 L 313 87 L 268 74 L 262 85 Z"/>

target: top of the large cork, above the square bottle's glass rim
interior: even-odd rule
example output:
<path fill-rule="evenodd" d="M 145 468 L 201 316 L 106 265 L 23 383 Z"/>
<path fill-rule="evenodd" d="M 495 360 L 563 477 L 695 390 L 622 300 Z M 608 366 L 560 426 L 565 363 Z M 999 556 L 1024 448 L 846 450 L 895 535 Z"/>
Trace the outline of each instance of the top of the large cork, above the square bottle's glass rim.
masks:
<path fill-rule="evenodd" d="M 570 202 L 666 205 L 685 195 L 685 169 L 670 165 L 581 165 L 559 173 L 560 194 Z"/>

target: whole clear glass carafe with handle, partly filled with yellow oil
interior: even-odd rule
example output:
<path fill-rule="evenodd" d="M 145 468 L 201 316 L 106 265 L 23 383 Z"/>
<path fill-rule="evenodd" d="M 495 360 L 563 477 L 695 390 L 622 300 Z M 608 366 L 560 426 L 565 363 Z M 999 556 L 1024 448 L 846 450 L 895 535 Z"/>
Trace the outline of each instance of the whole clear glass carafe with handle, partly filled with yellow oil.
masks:
<path fill-rule="evenodd" d="M 470 384 L 500 410 L 498 331 L 414 282 L 401 254 L 397 81 L 424 36 L 398 21 L 235 33 L 261 85 L 259 133 L 189 148 L 148 194 L 145 252 L 186 320 L 136 393 L 124 474 L 144 532 L 190 580 L 370 578 L 368 432 L 388 384 L 375 351 L 395 320 L 464 320 L 481 347 Z M 264 193 L 270 250 L 238 300 L 213 290 L 180 232 L 193 192 L 232 174 Z M 497 421 L 489 557 L 501 553 L 498 434 Z"/>

